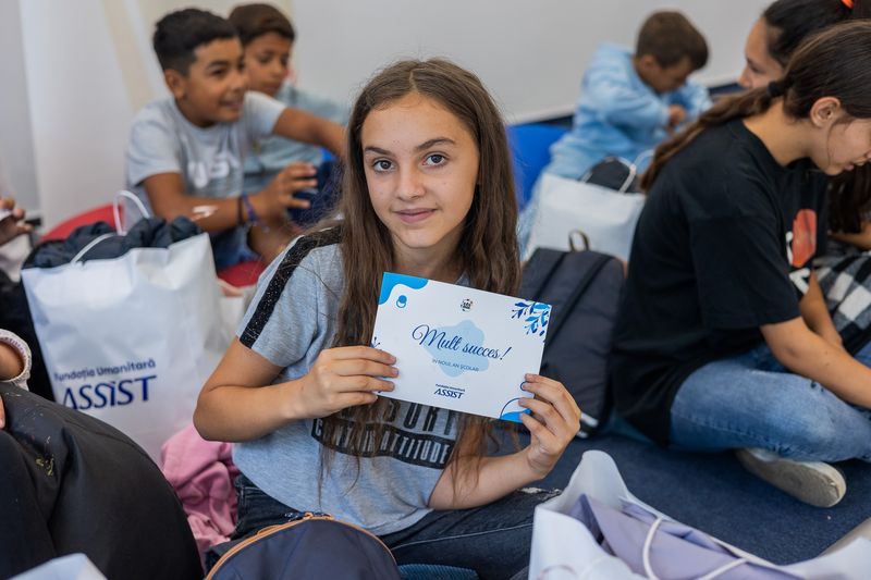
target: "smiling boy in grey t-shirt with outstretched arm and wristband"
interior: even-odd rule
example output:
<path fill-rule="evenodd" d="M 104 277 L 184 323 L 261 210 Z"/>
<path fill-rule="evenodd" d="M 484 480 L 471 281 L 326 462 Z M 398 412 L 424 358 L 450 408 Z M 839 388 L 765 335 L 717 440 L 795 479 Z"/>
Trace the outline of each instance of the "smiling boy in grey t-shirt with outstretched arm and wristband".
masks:
<path fill-rule="evenodd" d="M 243 193 L 244 159 L 268 135 L 341 153 L 344 129 L 246 91 L 242 45 L 226 20 L 196 9 L 157 23 L 154 47 L 172 97 L 146 106 L 127 147 L 127 185 L 155 214 L 187 215 L 212 235 L 216 266 L 271 260 L 295 233 L 287 208 L 314 187 L 315 171 L 291 166 L 255 194 Z"/>

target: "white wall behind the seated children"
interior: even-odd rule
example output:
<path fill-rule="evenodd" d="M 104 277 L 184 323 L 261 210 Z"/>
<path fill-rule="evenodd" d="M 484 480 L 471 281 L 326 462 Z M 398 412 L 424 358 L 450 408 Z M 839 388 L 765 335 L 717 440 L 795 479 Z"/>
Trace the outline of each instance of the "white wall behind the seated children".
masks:
<path fill-rule="evenodd" d="M 199 2 L 226 14 L 242 0 Z M 641 20 L 683 10 L 708 37 L 699 78 L 734 81 L 766 0 L 279 0 L 299 33 L 300 85 L 349 101 L 401 57 L 446 55 L 477 72 L 513 122 L 568 114 L 602 41 L 631 44 Z M 184 0 L 0 0 L 0 156 L 48 227 L 124 184 L 135 112 L 165 94 L 155 22 Z M 20 29 L 15 26 L 20 24 Z M 16 47 L 19 49 L 16 50 Z M 17 79 L 17 81 L 16 81 Z M 38 195 L 35 193 L 38 190 Z"/>

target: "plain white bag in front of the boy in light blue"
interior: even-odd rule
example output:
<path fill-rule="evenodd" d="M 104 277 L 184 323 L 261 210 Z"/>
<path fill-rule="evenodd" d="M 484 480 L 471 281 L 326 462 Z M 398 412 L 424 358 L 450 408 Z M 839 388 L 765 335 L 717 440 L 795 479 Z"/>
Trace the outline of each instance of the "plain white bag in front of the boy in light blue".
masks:
<path fill-rule="evenodd" d="M 643 194 L 619 193 L 586 182 L 544 173 L 538 186 L 540 202 L 526 246 L 568 250 L 573 232 L 586 234 L 591 250 L 628 261 Z M 527 256 L 528 257 L 528 256 Z"/>

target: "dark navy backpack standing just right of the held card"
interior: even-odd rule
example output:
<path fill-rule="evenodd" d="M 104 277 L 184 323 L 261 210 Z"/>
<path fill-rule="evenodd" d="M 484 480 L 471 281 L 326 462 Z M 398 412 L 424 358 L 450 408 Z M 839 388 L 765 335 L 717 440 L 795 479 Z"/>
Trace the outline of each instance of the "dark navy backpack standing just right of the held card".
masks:
<path fill-rule="evenodd" d="M 520 296 L 553 307 L 541 374 L 575 397 L 581 437 L 608 419 L 609 356 L 624 280 L 623 262 L 598 251 L 537 248 L 524 267 Z"/>

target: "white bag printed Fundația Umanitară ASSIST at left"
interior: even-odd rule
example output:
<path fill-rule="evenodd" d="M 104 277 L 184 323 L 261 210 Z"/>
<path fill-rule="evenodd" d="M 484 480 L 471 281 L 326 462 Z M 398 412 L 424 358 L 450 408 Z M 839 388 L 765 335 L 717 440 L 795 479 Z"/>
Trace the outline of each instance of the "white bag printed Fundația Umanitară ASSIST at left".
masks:
<path fill-rule="evenodd" d="M 232 337 L 208 234 L 28 268 L 23 280 L 56 400 L 123 431 L 157 460 L 191 422 Z"/>

